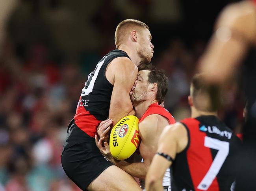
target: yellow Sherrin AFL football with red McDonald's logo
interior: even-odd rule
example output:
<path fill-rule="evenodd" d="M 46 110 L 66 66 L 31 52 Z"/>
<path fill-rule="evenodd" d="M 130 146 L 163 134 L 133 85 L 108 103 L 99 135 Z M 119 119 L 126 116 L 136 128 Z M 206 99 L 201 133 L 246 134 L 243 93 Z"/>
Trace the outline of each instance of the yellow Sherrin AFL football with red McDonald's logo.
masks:
<path fill-rule="evenodd" d="M 122 118 L 111 130 L 109 149 L 117 160 L 129 158 L 140 143 L 139 119 L 134 115 Z"/>

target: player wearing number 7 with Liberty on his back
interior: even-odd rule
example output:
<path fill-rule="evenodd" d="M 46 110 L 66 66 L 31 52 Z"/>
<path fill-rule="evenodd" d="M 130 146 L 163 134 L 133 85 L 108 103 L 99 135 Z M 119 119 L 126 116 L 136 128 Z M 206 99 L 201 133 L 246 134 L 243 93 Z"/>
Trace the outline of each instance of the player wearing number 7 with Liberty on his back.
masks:
<path fill-rule="evenodd" d="M 240 140 L 217 118 L 202 75 L 194 76 L 188 102 L 191 118 L 167 126 L 146 177 L 146 190 L 161 190 L 163 175 L 173 166 L 172 191 L 228 191 L 236 173 Z"/>

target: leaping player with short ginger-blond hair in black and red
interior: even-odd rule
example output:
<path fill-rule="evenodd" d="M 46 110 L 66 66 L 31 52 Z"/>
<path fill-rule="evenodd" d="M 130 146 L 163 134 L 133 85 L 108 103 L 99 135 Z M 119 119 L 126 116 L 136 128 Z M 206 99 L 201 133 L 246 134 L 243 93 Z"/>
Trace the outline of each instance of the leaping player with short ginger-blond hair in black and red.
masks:
<path fill-rule="evenodd" d="M 106 160 L 95 145 L 100 122 L 111 118 L 116 124 L 133 115 L 130 91 L 138 75 L 137 65 L 153 56 L 148 26 L 124 20 L 116 29 L 116 50 L 104 56 L 88 76 L 68 127 L 61 156 L 67 176 L 82 190 L 140 190 L 134 178 Z"/>

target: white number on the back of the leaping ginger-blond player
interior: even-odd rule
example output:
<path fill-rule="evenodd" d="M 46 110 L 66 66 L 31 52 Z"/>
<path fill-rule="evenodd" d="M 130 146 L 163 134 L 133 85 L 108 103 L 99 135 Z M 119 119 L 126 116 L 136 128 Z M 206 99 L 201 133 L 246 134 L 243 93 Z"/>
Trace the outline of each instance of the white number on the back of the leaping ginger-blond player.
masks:
<path fill-rule="evenodd" d="M 102 67 L 104 61 L 105 61 L 105 59 L 102 60 L 101 62 L 99 62 L 99 63 L 96 65 L 95 70 L 89 74 L 88 80 L 87 80 L 87 82 L 85 82 L 85 86 L 84 86 L 84 88 L 82 89 L 82 94 L 81 94 L 81 96 L 89 95 L 89 93 L 91 93 L 91 92 L 93 91 L 93 87 L 94 87 L 95 80 L 96 80 L 96 78 L 97 78 L 97 76 L 98 76 L 98 73 L 99 73 L 100 68 Z"/>

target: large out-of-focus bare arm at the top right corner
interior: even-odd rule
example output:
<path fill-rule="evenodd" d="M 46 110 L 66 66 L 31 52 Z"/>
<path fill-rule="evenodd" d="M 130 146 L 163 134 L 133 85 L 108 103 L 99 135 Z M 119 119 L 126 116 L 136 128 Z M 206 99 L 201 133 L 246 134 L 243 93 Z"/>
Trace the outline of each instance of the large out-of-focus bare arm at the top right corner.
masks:
<path fill-rule="evenodd" d="M 252 1 L 228 5 L 217 20 L 200 71 L 210 82 L 226 81 L 237 68 L 247 48 L 256 39 L 256 11 Z"/>

